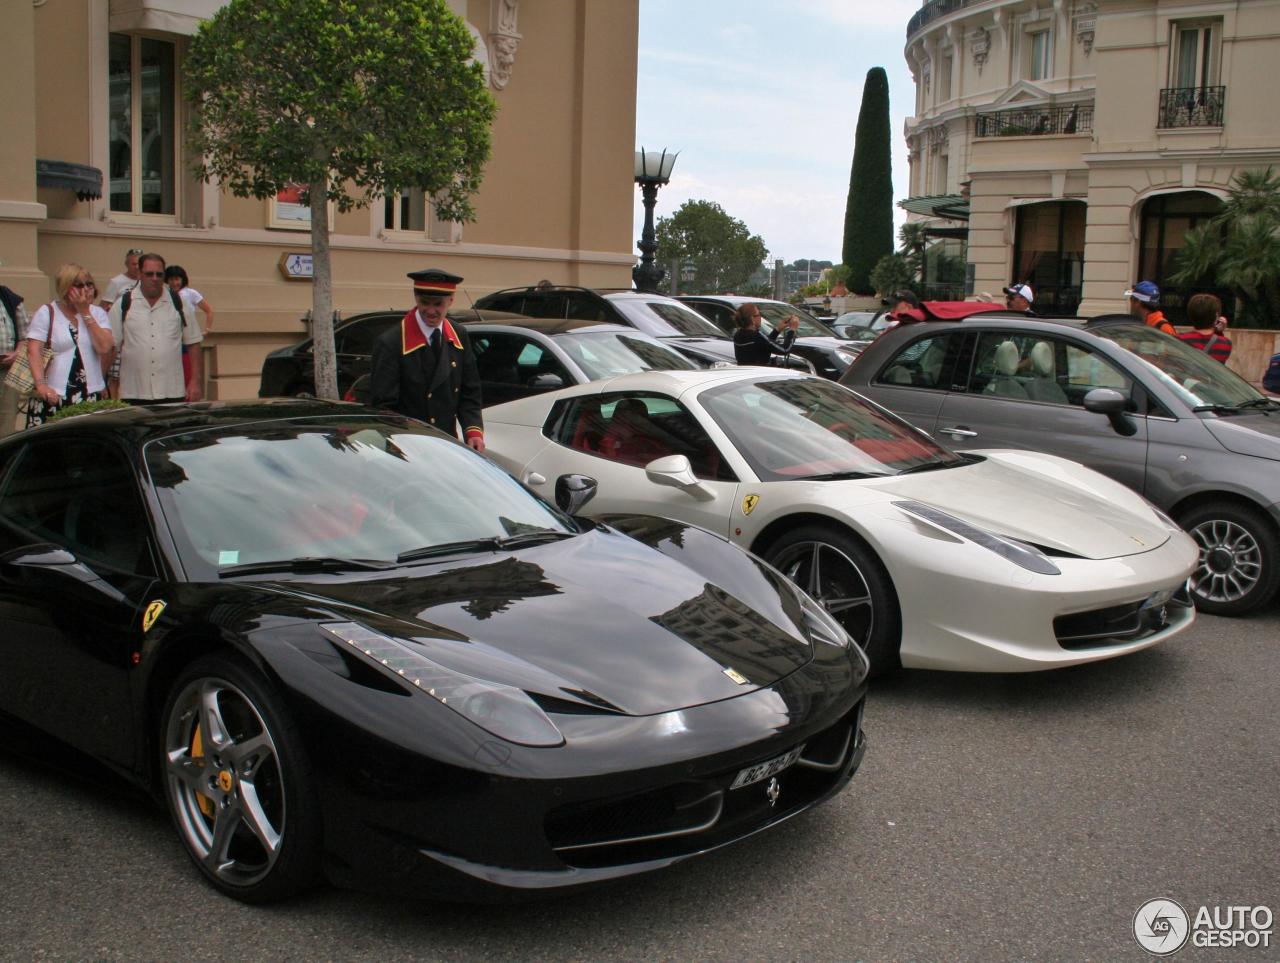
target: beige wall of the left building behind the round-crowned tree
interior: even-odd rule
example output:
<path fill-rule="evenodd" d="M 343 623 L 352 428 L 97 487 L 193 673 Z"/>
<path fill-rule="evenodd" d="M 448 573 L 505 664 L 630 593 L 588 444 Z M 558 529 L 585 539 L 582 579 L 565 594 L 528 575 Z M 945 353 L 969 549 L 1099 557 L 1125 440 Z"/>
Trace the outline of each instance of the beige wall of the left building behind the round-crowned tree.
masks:
<path fill-rule="evenodd" d="M 174 215 L 120 214 L 106 197 L 37 187 L 37 159 L 109 169 L 109 37 L 175 45 L 219 0 L 29 0 L 6 4 L 13 31 L 0 64 L 0 283 L 32 303 L 51 295 L 58 265 L 84 264 L 105 287 L 124 251 L 180 264 L 215 307 L 206 339 L 210 396 L 257 393 L 264 355 L 305 334 L 311 284 L 280 260 L 310 251 L 307 231 L 271 225 L 268 201 L 195 182 L 178 161 Z M 547 278 L 630 287 L 635 186 L 639 0 L 451 0 L 480 40 L 498 102 L 493 155 L 475 197 L 477 220 L 387 231 L 383 205 L 334 218 L 333 300 L 343 316 L 408 307 L 407 271 L 439 266 L 466 278 L 458 302 Z M 515 23 L 509 18 L 515 13 Z M 506 41 L 499 35 L 507 35 Z M 513 45 L 503 69 L 497 46 Z M 44 67 L 55 64 L 56 69 Z M 179 124 L 187 108 L 178 104 Z M 424 145 L 429 150 L 429 145 Z"/>

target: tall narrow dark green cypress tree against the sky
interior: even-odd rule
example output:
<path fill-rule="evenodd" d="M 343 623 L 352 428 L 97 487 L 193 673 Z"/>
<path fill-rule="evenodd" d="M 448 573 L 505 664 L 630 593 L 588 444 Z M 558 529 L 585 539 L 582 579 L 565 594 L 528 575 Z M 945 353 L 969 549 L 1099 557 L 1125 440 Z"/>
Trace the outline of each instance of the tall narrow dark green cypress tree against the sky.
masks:
<path fill-rule="evenodd" d="M 844 261 L 849 289 L 869 295 L 872 269 L 893 251 L 893 181 L 890 173 L 888 74 L 867 72 L 854 136 L 854 165 L 845 205 Z"/>

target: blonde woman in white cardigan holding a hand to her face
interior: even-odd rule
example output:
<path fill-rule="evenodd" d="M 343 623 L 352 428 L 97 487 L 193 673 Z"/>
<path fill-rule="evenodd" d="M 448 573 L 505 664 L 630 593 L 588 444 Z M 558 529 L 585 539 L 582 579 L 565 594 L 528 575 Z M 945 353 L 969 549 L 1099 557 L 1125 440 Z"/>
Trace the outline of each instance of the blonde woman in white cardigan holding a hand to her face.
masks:
<path fill-rule="evenodd" d="M 106 311 L 93 305 L 93 280 L 78 264 L 64 264 L 54 275 L 58 300 L 42 305 L 27 328 L 27 360 L 36 393 L 27 409 L 27 426 L 44 424 L 64 405 L 102 397 L 105 364 L 114 342 Z M 54 353 L 45 366 L 45 342 Z"/>

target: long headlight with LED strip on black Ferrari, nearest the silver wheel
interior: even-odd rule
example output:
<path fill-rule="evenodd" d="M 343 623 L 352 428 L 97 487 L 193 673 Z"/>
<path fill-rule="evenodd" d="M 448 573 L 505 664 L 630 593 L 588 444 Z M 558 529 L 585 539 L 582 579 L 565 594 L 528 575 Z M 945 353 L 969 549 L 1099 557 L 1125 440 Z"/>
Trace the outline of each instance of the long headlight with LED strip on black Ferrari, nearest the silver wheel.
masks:
<path fill-rule="evenodd" d="M 321 626 L 348 651 L 389 674 L 406 689 L 417 689 L 499 739 L 517 745 L 562 745 L 564 736 L 522 689 L 454 672 L 407 643 L 358 622 Z"/>

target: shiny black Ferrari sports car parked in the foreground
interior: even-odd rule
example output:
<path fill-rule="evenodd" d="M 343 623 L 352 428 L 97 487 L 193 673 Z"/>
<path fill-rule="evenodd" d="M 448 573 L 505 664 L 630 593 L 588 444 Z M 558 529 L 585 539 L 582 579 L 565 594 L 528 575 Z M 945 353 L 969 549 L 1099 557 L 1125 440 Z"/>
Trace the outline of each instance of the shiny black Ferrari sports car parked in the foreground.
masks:
<path fill-rule="evenodd" d="M 10 731 L 163 798 L 250 902 L 654 870 L 822 802 L 864 750 L 867 661 L 773 569 L 315 401 L 0 443 L 0 653 Z"/>

